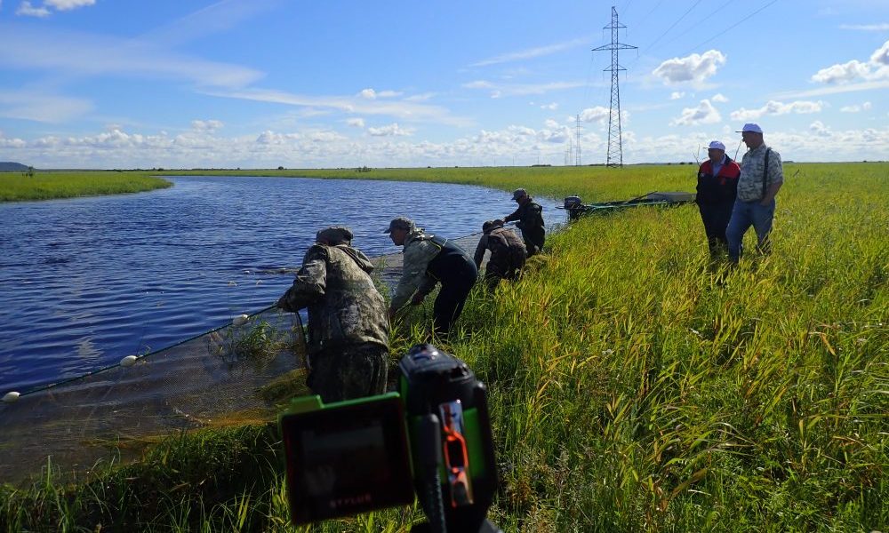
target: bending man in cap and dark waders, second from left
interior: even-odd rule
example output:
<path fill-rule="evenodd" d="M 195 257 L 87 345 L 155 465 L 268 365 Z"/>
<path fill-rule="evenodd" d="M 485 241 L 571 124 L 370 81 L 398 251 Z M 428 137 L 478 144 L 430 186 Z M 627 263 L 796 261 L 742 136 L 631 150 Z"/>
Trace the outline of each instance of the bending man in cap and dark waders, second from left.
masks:
<path fill-rule="evenodd" d="M 386 233 L 396 246 L 404 246 L 403 272 L 389 304 L 389 319 L 409 299 L 412 305 L 420 305 L 440 282 L 442 287 L 433 306 L 435 333 L 447 334 L 476 283 L 476 264 L 455 243 L 423 233 L 406 217 L 392 219 Z"/>

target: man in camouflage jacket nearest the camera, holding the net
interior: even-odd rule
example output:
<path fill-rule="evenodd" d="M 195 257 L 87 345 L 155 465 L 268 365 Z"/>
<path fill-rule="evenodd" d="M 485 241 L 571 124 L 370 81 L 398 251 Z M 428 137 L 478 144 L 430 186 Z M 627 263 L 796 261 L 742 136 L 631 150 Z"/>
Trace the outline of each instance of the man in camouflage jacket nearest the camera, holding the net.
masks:
<path fill-rule="evenodd" d="M 277 305 L 308 306 L 309 388 L 325 403 L 385 392 L 386 303 L 369 273 L 371 261 L 350 246 L 348 227 L 319 231 L 293 285 Z"/>

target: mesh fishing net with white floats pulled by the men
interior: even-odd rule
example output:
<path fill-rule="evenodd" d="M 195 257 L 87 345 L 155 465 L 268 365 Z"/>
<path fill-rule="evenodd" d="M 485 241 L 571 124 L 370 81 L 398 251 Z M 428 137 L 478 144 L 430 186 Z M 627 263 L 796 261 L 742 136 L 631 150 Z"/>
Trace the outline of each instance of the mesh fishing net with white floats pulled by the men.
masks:
<path fill-rule="evenodd" d="M 469 252 L 478 236 L 457 242 Z M 375 259 L 391 286 L 401 255 Z M 269 307 L 203 335 L 0 403 L 0 482 L 83 472 L 100 459 L 126 461 L 164 435 L 273 419 L 308 394 L 297 314 Z M 135 360 L 135 361 L 133 361 Z M 48 459 L 49 458 L 49 459 Z"/>

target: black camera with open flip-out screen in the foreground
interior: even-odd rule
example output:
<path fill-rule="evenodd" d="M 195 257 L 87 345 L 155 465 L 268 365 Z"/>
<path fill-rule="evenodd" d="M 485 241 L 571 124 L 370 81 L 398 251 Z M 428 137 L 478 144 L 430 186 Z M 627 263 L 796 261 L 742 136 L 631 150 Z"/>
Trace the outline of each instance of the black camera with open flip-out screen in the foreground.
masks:
<path fill-rule="evenodd" d="M 485 385 L 466 363 L 417 345 L 398 364 L 399 392 L 324 405 L 297 398 L 278 418 L 293 523 L 411 505 L 414 531 L 498 531 Z"/>

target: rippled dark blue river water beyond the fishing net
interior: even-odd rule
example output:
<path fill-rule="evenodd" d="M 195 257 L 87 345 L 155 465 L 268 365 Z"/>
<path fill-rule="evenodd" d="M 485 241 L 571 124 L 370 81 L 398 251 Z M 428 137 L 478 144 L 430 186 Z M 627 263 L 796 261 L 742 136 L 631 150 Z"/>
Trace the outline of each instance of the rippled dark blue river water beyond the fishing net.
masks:
<path fill-rule="evenodd" d="M 400 214 L 456 237 L 516 207 L 484 187 L 364 180 L 168 178 L 137 195 L 0 203 L 0 395 L 144 354 L 273 304 L 318 228 L 370 256 Z M 564 219 L 541 200 L 549 227 Z M 471 253 L 471 250 L 469 251 Z"/>

